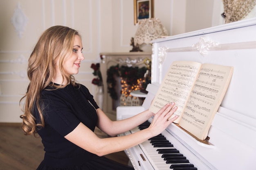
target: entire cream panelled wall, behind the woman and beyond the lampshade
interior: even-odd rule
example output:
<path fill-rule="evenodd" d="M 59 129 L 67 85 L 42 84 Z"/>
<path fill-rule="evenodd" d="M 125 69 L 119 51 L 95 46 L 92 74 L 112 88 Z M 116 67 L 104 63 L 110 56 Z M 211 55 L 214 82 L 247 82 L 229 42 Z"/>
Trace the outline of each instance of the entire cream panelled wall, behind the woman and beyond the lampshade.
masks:
<path fill-rule="evenodd" d="M 155 0 L 154 14 L 169 35 L 176 35 L 210 27 L 211 18 L 198 17 L 211 15 L 213 1 Z M 13 18 L 15 11 L 21 13 Z M 90 65 L 100 61 L 100 52 L 131 50 L 130 38 L 137 29 L 133 15 L 133 0 L 1 0 L 0 122 L 21 122 L 18 103 L 28 85 L 27 60 L 45 29 L 65 25 L 80 32 L 85 60 L 76 78 L 94 94 Z"/>

